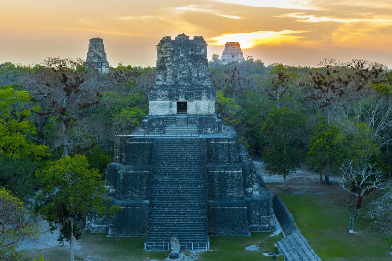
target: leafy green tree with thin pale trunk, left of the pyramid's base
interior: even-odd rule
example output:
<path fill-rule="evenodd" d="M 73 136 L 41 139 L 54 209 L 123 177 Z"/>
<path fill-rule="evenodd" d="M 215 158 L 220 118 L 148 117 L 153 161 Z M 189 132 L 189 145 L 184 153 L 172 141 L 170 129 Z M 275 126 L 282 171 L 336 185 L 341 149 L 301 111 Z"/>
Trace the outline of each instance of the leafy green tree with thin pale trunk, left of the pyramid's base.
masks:
<path fill-rule="evenodd" d="M 81 227 L 75 221 L 87 212 L 113 217 L 119 206 L 109 207 L 102 175 L 95 168 L 89 169 L 84 155 L 49 162 L 41 171 L 37 170 L 36 178 L 42 192 L 36 196 L 34 208 L 49 222 L 51 231 L 61 224 L 58 241 L 69 241 L 73 261 L 74 239 L 81 236 Z"/>

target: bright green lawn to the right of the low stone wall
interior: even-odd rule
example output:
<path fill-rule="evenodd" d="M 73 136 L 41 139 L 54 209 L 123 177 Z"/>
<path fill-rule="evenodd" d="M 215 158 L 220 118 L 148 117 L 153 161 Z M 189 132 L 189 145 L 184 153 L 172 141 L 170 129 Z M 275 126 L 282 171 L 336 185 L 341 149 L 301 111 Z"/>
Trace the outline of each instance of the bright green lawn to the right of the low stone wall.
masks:
<path fill-rule="evenodd" d="M 309 245 L 322 260 L 392 260 L 391 237 L 379 236 L 370 221 L 359 215 L 354 223 L 356 234 L 348 234 L 354 206 L 347 209 L 339 200 L 341 193 L 282 194 Z"/>

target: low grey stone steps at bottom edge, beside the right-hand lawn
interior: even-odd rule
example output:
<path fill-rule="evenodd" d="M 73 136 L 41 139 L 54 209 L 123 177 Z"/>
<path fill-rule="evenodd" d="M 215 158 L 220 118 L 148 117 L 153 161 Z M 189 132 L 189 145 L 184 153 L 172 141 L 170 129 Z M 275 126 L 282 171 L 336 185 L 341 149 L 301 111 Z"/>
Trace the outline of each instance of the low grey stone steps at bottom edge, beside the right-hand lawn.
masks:
<path fill-rule="evenodd" d="M 278 241 L 278 248 L 287 261 L 321 261 L 298 229 Z"/>

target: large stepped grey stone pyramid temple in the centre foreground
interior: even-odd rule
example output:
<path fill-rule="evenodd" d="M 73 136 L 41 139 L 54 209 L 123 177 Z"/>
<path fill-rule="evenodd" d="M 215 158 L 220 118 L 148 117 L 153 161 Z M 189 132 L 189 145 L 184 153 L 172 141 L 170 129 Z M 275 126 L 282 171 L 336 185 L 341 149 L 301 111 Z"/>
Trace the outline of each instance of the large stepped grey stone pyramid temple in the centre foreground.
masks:
<path fill-rule="evenodd" d="M 145 250 L 206 250 L 209 235 L 275 229 L 270 193 L 234 128 L 215 112 L 207 44 L 184 34 L 156 46 L 149 114 L 117 135 L 106 185 L 114 218 L 86 218 L 86 230 L 145 236 Z M 176 246 L 171 246 L 176 238 Z"/>

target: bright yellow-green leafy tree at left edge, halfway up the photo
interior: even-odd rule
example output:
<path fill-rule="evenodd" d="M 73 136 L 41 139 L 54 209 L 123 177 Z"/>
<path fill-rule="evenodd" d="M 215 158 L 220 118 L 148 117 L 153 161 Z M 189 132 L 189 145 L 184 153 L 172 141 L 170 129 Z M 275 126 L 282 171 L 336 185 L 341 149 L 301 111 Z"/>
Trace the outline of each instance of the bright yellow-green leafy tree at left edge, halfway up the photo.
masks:
<path fill-rule="evenodd" d="M 23 198 L 33 193 L 35 168 L 49 148 L 31 141 L 37 129 L 30 110 L 40 108 L 20 89 L 18 84 L 0 87 L 0 183 Z"/>

